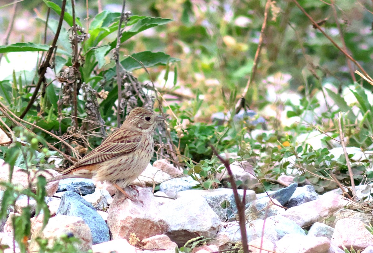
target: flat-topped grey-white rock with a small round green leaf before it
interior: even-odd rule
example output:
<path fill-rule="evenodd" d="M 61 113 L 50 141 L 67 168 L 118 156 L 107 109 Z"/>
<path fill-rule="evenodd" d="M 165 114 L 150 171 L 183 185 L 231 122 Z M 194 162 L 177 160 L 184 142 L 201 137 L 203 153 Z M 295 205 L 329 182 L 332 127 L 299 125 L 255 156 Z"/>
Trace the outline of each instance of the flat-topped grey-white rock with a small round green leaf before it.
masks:
<path fill-rule="evenodd" d="M 243 197 L 243 191 L 238 191 L 239 196 Z M 236 202 L 233 196 L 233 190 L 228 188 L 217 188 L 210 190 L 186 190 L 180 191 L 178 197 L 202 196 L 206 199 L 211 209 L 219 216 L 221 221 L 227 221 L 237 212 Z M 246 191 L 246 203 L 252 202 L 256 199 L 256 194 L 252 190 Z M 228 200 L 230 207 L 223 209 L 221 204 L 224 200 Z"/>

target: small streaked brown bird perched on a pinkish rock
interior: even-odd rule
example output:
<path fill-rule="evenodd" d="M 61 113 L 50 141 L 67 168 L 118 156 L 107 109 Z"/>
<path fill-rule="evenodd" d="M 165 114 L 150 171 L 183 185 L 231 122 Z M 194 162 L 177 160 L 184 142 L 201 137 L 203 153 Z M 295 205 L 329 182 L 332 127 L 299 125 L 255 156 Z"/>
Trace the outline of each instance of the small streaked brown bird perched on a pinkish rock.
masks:
<path fill-rule="evenodd" d="M 62 175 L 47 179 L 52 182 L 65 178 L 89 178 L 112 183 L 133 200 L 123 188 L 130 185 L 153 157 L 153 132 L 164 117 L 141 107 L 127 116 L 122 126 Z"/>

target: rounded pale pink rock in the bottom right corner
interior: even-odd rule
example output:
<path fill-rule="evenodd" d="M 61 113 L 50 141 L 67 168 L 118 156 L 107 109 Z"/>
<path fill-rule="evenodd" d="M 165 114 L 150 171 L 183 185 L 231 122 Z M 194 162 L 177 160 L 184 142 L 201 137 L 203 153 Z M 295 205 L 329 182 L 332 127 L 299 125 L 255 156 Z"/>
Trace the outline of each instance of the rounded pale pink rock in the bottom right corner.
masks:
<path fill-rule="evenodd" d="M 332 243 L 342 248 L 363 250 L 373 245 L 373 235 L 366 229 L 366 225 L 357 219 L 340 219 L 336 222 Z"/>

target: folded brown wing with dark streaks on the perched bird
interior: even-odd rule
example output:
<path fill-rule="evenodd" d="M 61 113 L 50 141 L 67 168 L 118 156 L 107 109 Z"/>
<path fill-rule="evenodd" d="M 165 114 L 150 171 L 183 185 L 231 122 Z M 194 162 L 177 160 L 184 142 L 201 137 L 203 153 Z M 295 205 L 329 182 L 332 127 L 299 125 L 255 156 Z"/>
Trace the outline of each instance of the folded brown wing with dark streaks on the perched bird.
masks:
<path fill-rule="evenodd" d="M 65 169 L 62 174 L 68 174 L 74 169 L 104 162 L 114 157 L 129 153 L 137 149 L 142 136 L 138 132 L 119 131 L 110 135 L 100 146 L 93 149 L 70 168 Z"/>

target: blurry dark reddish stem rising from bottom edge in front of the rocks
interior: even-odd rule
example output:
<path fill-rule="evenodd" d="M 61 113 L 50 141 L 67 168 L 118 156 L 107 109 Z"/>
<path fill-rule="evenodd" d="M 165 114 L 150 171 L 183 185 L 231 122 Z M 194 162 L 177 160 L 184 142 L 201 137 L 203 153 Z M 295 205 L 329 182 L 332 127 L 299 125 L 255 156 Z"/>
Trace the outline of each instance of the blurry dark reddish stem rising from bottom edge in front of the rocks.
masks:
<path fill-rule="evenodd" d="M 229 174 L 229 182 L 231 183 L 231 187 L 233 190 L 233 196 L 234 200 L 236 202 L 237 206 L 237 213 L 238 213 L 238 223 L 239 223 L 239 229 L 241 231 L 241 238 L 242 238 L 242 249 L 244 253 L 250 253 L 249 246 L 247 243 L 247 233 L 246 233 L 246 226 L 245 226 L 245 199 L 239 198 L 238 192 L 237 192 L 237 185 L 235 182 L 235 179 L 233 178 L 233 173 L 231 170 L 231 166 L 229 165 L 229 160 L 224 159 L 221 157 L 214 146 L 210 145 L 211 149 L 213 150 L 214 154 L 217 156 L 217 158 L 224 164 L 225 168 L 228 171 Z"/>

